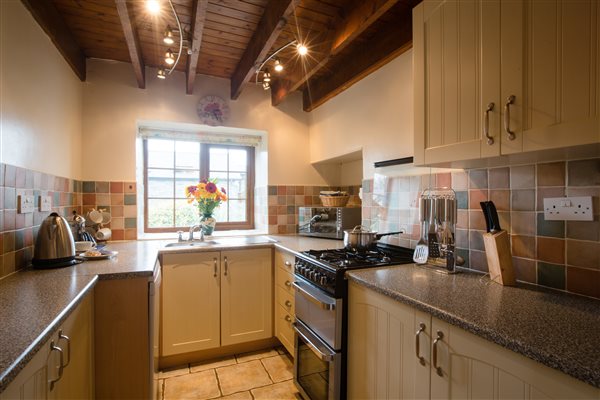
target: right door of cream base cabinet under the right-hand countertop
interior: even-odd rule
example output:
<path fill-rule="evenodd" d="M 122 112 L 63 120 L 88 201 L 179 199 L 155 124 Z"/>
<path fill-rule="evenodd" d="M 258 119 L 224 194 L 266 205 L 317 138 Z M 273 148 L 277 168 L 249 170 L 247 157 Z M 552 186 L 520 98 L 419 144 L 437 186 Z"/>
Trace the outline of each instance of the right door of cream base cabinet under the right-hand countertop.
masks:
<path fill-rule="evenodd" d="M 432 318 L 437 366 L 432 399 L 580 399 L 600 390 L 460 328 Z M 432 349 L 432 353 L 434 349 Z"/>

